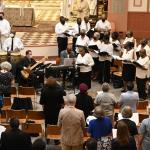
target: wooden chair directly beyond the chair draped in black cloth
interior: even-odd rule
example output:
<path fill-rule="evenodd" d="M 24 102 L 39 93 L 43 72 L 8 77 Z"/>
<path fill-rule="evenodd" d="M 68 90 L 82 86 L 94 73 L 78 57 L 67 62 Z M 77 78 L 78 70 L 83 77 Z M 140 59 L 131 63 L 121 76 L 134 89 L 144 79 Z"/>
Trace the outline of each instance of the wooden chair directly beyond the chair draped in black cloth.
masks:
<path fill-rule="evenodd" d="M 20 98 L 26 98 L 26 97 L 31 97 L 31 99 L 34 100 L 34 108 L 35 108 L 35 103 L 36 103 L 36 91 L 34 87 L 18 87 L 18 97 Z"/>

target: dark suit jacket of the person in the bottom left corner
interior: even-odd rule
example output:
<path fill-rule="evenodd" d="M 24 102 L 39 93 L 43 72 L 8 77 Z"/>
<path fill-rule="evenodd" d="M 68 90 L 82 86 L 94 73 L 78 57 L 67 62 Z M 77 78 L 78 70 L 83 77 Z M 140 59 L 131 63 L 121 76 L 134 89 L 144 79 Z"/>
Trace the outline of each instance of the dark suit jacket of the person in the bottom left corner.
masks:
<path fill-rule="evenodd" d="M 10 129 L 1 135 L 1 150 L 31 150 L 32 143 L 28 134 L 19 129 Z"/>

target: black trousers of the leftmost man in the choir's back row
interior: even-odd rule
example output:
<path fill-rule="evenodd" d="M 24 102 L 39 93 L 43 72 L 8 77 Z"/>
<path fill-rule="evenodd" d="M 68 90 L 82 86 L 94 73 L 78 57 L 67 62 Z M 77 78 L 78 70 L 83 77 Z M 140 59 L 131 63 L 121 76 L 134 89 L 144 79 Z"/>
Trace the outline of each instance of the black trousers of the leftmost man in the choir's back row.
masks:
<path fill-rule="evenodd" d="M 58 55 L 60 56 L 61 51 L 67 49 L 68 38 L 57 37 L 57 43 L 58 43 Z"/>

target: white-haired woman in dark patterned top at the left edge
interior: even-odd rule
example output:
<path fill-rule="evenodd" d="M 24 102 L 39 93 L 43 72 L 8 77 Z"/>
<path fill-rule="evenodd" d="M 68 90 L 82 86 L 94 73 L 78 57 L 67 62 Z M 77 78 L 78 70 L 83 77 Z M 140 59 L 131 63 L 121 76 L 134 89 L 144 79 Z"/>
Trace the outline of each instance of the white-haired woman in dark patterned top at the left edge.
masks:
<path fill-rule="evenodd" d="M 11 84 L 13 84 L 14 76 L 10 72 L 12 66 L 5 61 L 0 64 L 0 95 L 9 97 L 11 95 Z"/>

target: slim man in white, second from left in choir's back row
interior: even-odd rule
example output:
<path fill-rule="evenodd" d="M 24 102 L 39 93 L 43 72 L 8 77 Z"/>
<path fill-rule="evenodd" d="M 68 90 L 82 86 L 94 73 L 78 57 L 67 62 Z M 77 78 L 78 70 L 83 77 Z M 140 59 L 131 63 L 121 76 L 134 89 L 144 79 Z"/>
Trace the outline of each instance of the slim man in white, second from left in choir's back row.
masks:
<path fill-rule="evenodd" d="M 81 31 L 81 18 L 77 18 L 77 22 L 74 25 L 74 30 L 73 30 L 73 39 L 72 39 L 72 48 L 73 51 L 76 53 L 75 49 L 76 49 L 76 41 L 78 36 L 80 36 L 80 31 Z"/>

